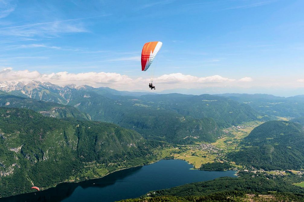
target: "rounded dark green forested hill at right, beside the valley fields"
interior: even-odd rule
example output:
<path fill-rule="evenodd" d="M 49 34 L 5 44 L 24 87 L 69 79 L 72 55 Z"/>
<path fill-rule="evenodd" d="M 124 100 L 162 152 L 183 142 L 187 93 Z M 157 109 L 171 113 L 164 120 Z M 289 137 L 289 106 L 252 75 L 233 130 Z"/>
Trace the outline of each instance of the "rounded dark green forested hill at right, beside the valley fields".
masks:
<path fill-rule="evenodd" d="M 290 121 L 268 121 L 242 141 L 243 149 L 228 155 L 238 164 L 257 169 L 304 168 L 304 130 Z"/>

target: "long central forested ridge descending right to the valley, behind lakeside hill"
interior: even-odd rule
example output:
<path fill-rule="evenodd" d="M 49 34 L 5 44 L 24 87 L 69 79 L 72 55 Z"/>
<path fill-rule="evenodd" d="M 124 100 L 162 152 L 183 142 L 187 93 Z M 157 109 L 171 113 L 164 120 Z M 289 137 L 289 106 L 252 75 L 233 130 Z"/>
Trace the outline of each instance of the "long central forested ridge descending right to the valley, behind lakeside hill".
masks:
<path fill-rule="evenodd" d="M 171 143 L 213 142 L 222 132 L 211 118 L 193 119 L 161 109 L 139 99 L 111 99 L 95 92 L 78 92 L 69 105 L 90 114 L 92 120 L 106 121 L 133 129 L 144 138 Z"/>

